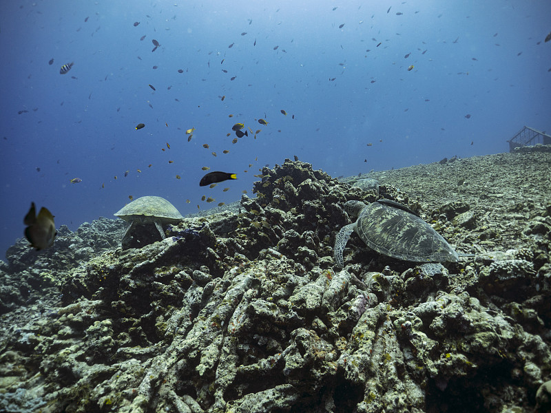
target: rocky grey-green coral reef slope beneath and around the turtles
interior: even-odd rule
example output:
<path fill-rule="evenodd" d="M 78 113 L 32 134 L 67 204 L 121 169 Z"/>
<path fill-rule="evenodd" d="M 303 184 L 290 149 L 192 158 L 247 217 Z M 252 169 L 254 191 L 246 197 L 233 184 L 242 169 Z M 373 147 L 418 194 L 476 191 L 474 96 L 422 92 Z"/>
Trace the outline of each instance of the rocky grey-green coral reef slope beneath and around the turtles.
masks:
<path fill-rule="evenodd" d="M 543 412 L 550 165 L 541 149 L 448 160 L 370 173 L 377 193 L 286 160 L 238 211 L 141 249 L 105 218 L 43 253 L 18 242 L 0 267 L 0 410 Z M 417 266 L 353 235 L 338 271 L 342 204 L 381 197 L 472 256 Z"/>

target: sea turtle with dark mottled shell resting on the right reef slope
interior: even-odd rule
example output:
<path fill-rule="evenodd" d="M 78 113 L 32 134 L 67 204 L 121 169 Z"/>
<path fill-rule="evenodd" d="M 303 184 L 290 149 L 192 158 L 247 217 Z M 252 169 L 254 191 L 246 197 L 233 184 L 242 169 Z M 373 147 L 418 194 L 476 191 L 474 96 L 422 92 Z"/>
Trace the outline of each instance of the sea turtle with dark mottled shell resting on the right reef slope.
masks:
<path fill-rule="evenodd" d="M 335 239 L 335 262 L 342 268 L 342 252 L 353 231 L 378 253 L 413 262 L 457 262 L 454 249 L 413 211 L 391 200 L 373 204 L 348 201 L 344 211 L 357 221 L 342 227 Z"/>

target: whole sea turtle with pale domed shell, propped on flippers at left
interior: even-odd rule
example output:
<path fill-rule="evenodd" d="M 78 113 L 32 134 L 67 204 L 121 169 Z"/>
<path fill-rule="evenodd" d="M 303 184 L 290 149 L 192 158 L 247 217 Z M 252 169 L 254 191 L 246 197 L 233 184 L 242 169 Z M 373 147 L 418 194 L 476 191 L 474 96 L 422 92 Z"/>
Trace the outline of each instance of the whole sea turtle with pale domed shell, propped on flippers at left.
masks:
<path fill-rule="evenodd" d="M 173 204 L 160 196 L 143 196 L 127 204 L 121 211 L 114 213 L 118 218 L 130 222 L 121 244 L 123 248 L 140 248 L 156 241 L 158 232 L 160 240 L 165 239 L 163 226 L 178 224 L 183 216 Z M 153 236 L 152 236 L 153 235 Z M 152 241 L 153 240 L 153 241 Z"/>

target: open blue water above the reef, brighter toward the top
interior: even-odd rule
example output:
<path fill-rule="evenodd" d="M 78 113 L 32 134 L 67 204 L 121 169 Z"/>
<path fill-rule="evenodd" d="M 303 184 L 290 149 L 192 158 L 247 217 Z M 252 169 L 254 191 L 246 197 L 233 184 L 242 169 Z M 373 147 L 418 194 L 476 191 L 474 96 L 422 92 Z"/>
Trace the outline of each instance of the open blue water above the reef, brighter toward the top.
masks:
<path fill-rule="evenodd" d="M 2 1 L 1 256 L 32 201 L 74 230 L 129 195 L 183 215 L 252 196 L 260 167 L 295 155 L 349 176 L 508 151 L 523 125 L 551 130 L 550 16 L 526 0 Z M 262 131 L 232 144 L 236 122 Z M 239 179 L 200 188 L 201 167 Z"/>

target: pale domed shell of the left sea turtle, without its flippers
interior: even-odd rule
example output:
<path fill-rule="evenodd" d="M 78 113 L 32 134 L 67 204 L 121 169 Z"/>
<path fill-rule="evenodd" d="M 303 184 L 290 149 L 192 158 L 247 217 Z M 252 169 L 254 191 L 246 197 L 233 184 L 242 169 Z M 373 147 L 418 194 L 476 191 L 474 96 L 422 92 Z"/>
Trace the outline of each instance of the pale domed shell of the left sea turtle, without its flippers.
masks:
<path fill-rule="evenodd" d="M 118 218 L 127 222 L 141 222 L 147 224 L 159 220 L 163 224 L 177 224 L 183 216 L 173 204 L 160 196 L 143 196 L 125 205 L 123 209 L 114 213 Z"/>

